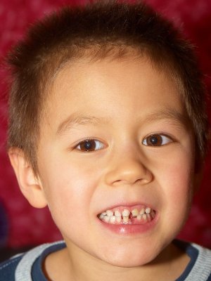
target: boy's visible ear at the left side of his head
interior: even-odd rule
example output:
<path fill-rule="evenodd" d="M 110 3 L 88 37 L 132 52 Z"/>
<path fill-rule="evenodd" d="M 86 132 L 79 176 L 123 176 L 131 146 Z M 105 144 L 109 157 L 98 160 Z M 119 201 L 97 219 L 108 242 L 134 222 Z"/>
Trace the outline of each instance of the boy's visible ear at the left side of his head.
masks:
<path fill-rule="evenodd" d="M 11 160 L 20 190 L 28 202 L 36 208 L 46 207 L 47 202 L 41 181 L 34 176 L 32 166 L 25 159 L 23 150 L 10 148 L 8 157 Z"/>

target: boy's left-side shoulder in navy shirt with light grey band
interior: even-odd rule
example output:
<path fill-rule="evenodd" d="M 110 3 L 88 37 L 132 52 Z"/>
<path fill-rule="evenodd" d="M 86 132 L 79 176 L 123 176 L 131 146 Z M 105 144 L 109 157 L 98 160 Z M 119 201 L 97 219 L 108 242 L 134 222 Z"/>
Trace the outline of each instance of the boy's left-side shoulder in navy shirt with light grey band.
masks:
<path fill-rule="evenodd" d="M 63 241 L 41 244 L 24 254 L 13 256 L 0 264 L 0 281 L 46 280 L 42 273 L 42 261 L 46 255 L 63 247 Z"/>

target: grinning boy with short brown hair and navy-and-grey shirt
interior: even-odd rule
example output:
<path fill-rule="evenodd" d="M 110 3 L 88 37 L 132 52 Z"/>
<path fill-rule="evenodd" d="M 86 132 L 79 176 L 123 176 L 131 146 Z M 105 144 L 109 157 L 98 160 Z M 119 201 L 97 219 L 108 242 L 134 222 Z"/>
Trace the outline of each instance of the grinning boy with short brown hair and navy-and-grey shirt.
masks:
<path fill-rule="evenodd" d="M 189 44 L 145 4 L 64 8 L 11 53 L 8 155 L 65 242 L 6 261 L 0 280 L 211 280 L 174 240 L 207 147 Z"/>

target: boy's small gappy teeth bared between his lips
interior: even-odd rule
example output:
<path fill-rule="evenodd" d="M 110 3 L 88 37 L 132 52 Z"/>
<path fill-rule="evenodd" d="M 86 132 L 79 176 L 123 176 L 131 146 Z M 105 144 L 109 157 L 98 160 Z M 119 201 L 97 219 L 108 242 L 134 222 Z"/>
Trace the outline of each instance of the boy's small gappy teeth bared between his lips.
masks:
<path fill-rule="evenodd" d="M 155 215 L 155 210 L 150 207 L 137 207 L 131 210 L 129 208 L 117 208 L 103 211 L 103 213 L 98 214 L 98 218 L 104 223 L 129 225 L 148 223 L 153 221 Z"/>

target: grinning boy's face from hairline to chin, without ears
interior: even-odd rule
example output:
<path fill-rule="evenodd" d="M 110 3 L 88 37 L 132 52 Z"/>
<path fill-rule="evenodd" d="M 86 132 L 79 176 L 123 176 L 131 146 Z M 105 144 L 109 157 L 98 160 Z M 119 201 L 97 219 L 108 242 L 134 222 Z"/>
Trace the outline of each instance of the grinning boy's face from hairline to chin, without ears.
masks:
<path fill-rule="evenodd" d="M 37 159 L 46 202 L 71 253 L 142 265 L 186 221 L 193 134 L 174 81 L 145 58 L 81 60 L 60 71 Z M 150 214 L 140 215 L 148 207 Z M 126 223 L 99 218 L 124 209 Z"/>

